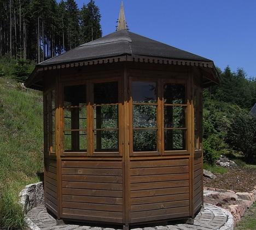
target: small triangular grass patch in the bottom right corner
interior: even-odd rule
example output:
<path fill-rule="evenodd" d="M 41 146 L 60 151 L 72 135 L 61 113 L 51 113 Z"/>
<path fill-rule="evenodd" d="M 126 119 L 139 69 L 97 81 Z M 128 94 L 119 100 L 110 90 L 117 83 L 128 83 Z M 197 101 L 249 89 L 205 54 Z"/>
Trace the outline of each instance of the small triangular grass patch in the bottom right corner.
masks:
<path fill-rule="evenodd" d="M 256 229 L 256 203 L 246 211 L 245 216 L 238 222 L 235 230 L 255 230 Z"/>

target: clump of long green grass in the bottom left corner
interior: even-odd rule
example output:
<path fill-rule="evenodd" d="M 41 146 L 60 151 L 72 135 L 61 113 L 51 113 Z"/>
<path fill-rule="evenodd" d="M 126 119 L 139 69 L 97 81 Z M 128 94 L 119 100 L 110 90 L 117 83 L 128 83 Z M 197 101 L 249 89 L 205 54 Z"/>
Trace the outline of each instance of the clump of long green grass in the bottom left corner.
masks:
<path fill-rule="evenodd" d="M 5 189 L 0 196 L 0 228 L 26 229 L 25 214 L 14 192 Z"/>

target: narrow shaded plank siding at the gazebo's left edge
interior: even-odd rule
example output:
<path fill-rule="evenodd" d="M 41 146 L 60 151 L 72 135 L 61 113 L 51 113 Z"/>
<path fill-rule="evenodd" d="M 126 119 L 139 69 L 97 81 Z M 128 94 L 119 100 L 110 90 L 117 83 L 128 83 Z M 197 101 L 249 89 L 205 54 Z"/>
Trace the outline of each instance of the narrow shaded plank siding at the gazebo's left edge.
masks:
<path fill-rule="evenodd" d="M 45 205 L 57 215 L 57 166 L 56 160 L 48 158 L 45 161 L 44 197 Z"/>

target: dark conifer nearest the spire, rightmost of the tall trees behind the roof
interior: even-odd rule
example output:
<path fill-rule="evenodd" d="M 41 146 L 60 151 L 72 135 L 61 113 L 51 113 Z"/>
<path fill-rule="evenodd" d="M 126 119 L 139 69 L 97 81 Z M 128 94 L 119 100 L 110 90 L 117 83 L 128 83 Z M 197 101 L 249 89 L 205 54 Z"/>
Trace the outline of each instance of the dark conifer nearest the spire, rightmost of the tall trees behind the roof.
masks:
<path fill-rule="evenodd" d="M 82 43 L 87 43 L 102 37 L 100 9 L 93 0 L 83 5 L 81 10 L 80 33 Z"/>

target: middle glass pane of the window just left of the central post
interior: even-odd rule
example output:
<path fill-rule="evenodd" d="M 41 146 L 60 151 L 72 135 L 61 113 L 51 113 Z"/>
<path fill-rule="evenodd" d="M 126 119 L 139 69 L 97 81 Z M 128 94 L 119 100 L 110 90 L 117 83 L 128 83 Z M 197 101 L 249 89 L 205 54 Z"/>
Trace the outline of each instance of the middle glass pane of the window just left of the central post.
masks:
<path fill-rule="evenodd" d="M 94 107 L 94 129 L 118 128 L 118 105 Z"/>

